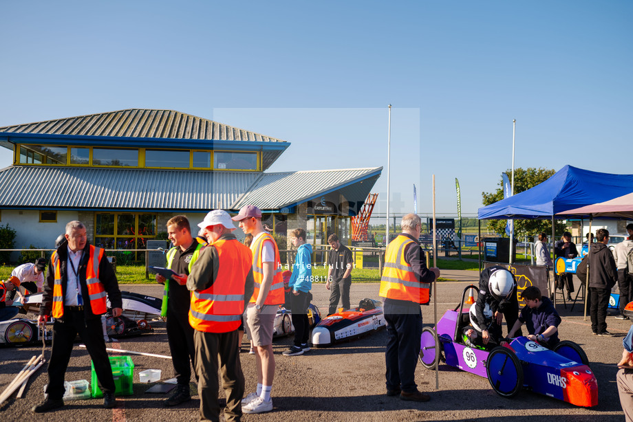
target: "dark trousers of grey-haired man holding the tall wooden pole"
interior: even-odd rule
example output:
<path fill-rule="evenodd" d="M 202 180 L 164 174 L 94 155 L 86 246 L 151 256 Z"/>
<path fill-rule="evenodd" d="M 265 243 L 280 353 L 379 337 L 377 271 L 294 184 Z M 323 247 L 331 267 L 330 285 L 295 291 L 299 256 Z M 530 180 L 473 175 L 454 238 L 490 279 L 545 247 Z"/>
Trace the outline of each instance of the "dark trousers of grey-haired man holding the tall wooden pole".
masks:
<path fill-rule="evenodd" d="M 420 337 L 422 336 L 422 312 L 413 307 L 385 304 L 385 322 L 387 322 L 387 349 L 385 364 L 387 371 L 387 390 L 415 392 L 416 366 L 420 355 Z"/>

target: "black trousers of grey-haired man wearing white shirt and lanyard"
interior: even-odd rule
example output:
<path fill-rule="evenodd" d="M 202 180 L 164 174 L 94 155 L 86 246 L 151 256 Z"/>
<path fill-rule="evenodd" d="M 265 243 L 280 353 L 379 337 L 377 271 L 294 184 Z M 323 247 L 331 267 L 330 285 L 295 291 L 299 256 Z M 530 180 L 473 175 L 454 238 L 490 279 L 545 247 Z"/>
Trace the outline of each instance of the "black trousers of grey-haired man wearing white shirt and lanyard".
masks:
<path fill-rule="evenodd" d="M 114 394 L 114 377 L 112 377 L 112 367 L 105 350 L 101 318 L 87 319 L 84 311 L 71 311 L 64 308 L 63 320 L 55 320 L 53 324 L 53 344 L 48 362 L 48 387 L 46 388 L 48 397 L 57 400 L 64 395 L 64 377 L 77 334 L 92 358 L 99 388 L 104 393 Z"/>

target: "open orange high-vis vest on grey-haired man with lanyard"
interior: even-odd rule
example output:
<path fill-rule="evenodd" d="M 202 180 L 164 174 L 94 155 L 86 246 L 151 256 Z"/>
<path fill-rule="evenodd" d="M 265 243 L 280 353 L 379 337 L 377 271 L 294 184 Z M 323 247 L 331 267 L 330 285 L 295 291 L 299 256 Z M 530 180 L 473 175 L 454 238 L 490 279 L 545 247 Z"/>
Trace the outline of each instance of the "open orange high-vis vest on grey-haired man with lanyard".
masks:
<path fill-rule="evenodd" d="M 106 294 L 103 284 L 99 280 L 99 263 L 103 258 L 103 249 L 89 245 L 88 263 L 86 265 L 86 286 L 88 288 L 88 300 L 94 315 L 101 315 L 107 311 Z M 57 252 L 53 252 L 51 262 L 55 271 L 53 285 L 53 318 L 62 318 L 64 315 L 64 292 L 61 278 L 61 261 Z"/>

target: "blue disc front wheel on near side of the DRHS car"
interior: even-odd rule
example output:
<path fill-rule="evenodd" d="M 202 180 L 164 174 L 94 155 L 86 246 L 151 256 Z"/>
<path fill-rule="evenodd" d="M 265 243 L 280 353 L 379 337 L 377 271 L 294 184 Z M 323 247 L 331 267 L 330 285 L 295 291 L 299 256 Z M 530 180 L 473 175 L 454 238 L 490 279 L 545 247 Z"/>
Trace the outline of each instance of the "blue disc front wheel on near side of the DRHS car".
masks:
<path fill-rule="evenodd" d="M 493 390 L 502 397 L 514 397 L 523 386 L 521 362 L 505 347 L 495 347 L 488 355 L 486 374 Z"/>

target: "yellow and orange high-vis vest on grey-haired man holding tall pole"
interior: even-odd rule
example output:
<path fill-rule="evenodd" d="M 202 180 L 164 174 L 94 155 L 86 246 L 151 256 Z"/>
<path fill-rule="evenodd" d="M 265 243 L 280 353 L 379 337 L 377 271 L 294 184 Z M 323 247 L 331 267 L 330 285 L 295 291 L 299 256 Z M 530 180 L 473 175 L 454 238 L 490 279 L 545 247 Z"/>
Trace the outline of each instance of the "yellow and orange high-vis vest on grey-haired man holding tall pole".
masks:
<path fill-rule="evenodd" d="M 400 234 L 387 246 L 385 269 L 380 278 L 378 293 L 381 298 L 429 303 L 429 283 L 419 282 L 411 265 L 405 262 L 405 247 L 411 243 L 415 244 L 410 238 Z"/>

